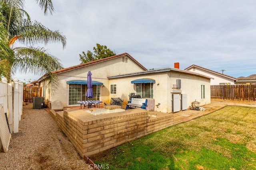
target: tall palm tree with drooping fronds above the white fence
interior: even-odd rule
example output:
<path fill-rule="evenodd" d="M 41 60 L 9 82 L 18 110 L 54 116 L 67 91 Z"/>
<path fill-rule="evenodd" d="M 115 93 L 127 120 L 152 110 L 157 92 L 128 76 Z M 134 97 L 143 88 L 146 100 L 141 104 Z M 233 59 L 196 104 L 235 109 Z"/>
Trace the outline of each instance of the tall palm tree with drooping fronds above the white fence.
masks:
<path fill-rule="evenodd" d="M 46 15 L 54 12 L 51 0 L 36 0 Z M 33 47 L 36 43 L 58 42 L 66 46 L 66 37 L 52 31 L 38 21 L 32 22 L 24 10 L 24 0 L 0 0 L 0 77 L 8 80 L 16 72 L 46 74 L 52 93 L 58 87 L 58 79 L 51 72 L 62 69 L 60 60 L 44 48 Z M 14 47 L 18 41 L 25 47 Z"/>

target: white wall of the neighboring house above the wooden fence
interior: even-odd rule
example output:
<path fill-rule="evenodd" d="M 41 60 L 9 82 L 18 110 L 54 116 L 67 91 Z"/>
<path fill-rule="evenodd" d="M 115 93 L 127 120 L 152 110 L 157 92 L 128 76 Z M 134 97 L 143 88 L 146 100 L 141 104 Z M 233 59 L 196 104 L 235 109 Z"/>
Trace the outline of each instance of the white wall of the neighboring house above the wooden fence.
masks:
<path fill-rule="evenodd" d="M 195 70 L 193 70 L 193 68 L 195 68 Z M 223 76 L 221 74 L 216 74 L 214 72 L 210 72 L 202 68 L 198 68 L 198 67 L 193 67 L 193 68 L 189 68 L 188 71 L 196 72 L 196 73 L 214 78 L 214 79 L 211 79 L 211 85 L 220 85 L 220 83 L 228 83 L 230 85 L 234 84 L 234 79 L 232 78 Z"/>

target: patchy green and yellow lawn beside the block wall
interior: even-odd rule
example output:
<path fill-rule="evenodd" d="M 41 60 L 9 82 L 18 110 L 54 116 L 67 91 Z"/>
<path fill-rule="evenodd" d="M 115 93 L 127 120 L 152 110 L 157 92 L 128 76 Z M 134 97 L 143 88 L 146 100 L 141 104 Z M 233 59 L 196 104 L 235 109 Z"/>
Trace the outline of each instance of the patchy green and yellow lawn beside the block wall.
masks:
<path fill-rule="evenodd" d="M 256 170 L 256 108 L 224 107 L 92 160 L 111 170 Z"/>

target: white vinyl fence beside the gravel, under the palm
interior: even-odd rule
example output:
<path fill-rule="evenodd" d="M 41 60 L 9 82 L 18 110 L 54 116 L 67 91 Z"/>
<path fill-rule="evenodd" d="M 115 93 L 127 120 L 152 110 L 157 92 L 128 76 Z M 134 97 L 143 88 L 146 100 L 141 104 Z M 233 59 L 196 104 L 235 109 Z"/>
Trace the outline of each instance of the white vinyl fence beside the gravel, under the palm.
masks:
<path fill-rule="evenodd" d="M 23 83 L 17 78 L 7 83 L 6 78 L 0 81 L 0 106 L 3 106 L 4 113 L 8 115 L 10 133 L 19 132 L 19 121 L 22 115 L 23 106 Z"/>

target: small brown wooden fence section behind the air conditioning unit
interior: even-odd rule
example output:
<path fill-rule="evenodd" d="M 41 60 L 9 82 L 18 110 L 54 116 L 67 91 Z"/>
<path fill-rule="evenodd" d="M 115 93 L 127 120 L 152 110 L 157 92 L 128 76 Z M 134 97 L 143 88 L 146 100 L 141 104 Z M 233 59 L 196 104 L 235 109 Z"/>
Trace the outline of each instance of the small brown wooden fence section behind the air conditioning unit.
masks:
<path fill-rule="evenodd" d="M 33 103 L 34 97 L 39 97 L 42 94 L 42 87 L 27 86 L 23 88 L 23 101 Z"/>

